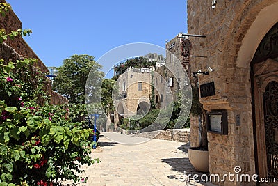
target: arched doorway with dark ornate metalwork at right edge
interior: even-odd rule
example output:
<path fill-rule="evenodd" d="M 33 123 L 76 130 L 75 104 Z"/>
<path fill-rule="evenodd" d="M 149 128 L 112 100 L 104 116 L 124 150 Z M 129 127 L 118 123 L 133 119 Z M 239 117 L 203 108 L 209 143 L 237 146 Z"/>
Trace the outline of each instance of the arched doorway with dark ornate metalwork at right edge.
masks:
<path fill-rule="evenodd" d="M 256 170 L 278 180 L 278 23 L 261 40 L 250 72 Z"/>

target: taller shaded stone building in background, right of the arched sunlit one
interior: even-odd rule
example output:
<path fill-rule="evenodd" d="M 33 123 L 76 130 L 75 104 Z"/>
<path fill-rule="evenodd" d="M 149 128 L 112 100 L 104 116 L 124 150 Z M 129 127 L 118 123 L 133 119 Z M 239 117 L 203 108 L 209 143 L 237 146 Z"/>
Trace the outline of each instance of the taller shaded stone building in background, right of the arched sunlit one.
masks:
<path fill-rule="evenodd" d="M 165 64 L 157 68 L 154 73 L 156 108 L 165 109 L 167 105 L 177 100 L 177 95 L 180 93 L 179 82 L 185 78 L 181 70 L 186 70 L 186 73 L 190 75 L 189 51 L 186 52 L 184 46 L 188 42 L 187 38 L 177 35 L 166 43 Z M 190 45 L 190 42 L 188 44 Z M 183 69 L 179 69 L 182 68 L 181 65 L 177 65 L 179 63 Z M 170 90 L 167 90 L 167 87 Z"/>

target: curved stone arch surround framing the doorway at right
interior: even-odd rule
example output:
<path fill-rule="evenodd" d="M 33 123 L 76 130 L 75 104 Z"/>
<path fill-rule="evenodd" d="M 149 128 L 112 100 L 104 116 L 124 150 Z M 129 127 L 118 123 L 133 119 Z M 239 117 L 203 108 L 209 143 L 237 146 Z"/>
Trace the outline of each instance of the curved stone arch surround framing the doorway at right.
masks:
<path fill-rule="evenodd" d="M 250 63 L 261 41 L 268 31 L 278 22 L 278 2 L 249 1 L 242 12 L 234 18 L 227 32 L 224 51 L 229 51 L 229 57 L 222 56 L 222 68 L 232 68 L 227 79 L 227 100 L 229 102 L 230 117 L 240 116 L 240 126 L 231 127 L 231 131 L 238 139 L 234 140 L 234 162 L 251 173 L 258 173 L 256 162 L 256 130 L 254 130 L 254 113 L 252 113 L 252 77 Z M 240 21 L 239 21 L 240 20 Z M 234 166 L 234 165 L 233 165 Z"/>

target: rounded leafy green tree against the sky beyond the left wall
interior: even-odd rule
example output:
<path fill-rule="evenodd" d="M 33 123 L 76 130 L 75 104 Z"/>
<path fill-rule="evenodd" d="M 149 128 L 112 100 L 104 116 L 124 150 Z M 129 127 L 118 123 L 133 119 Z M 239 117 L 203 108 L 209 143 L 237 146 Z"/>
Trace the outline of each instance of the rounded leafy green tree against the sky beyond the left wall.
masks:
<path fill-rule="evenodd" d="M 90 73 L 90 77 L 94 77 L 93 80 L 96 82 L 101 81 L 104 77 L 104 72 L 99 71 L 101 68 L 102 66 L 95 62 L 93 56 L 73 55 L 70 59 L 65 59 L 63 65 L 58 68 L 53 89 L 64 95 L 71 103 L 85 104 L 88 75 Z"/>

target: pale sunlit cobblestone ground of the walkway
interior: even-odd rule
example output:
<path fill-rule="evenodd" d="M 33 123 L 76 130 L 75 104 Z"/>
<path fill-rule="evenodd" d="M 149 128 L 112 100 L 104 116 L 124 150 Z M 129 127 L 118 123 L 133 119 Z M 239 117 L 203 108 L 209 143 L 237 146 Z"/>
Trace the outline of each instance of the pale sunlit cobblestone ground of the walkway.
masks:
<path fill-rule="evenodd" d="M 117 141 L 135 138 L 118 133 L 104 133 L 104 136 Z M 142 144 L 123 145 L 106 137 L 99 138 L 101 148 L 91 154 L 101 162 L 83 166 L 83 176 L 88 177 L 88 182 L 79 185 L 202 185 L 185 182 L 181 177 L 184 171 L 197 173 L 188 160 L 188 146 L 184 143 L 152 139 Z"/>

